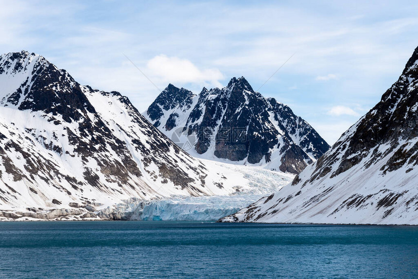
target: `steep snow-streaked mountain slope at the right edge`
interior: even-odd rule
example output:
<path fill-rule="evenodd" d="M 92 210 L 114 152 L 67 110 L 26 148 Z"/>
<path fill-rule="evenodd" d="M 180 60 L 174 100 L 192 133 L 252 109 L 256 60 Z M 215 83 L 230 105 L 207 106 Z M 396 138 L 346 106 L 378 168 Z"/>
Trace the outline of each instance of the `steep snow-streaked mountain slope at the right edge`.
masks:
<path fill-rule="evenodd" d="M 223 222 L 418 225 L 418 48 L 323 157 Z"/>

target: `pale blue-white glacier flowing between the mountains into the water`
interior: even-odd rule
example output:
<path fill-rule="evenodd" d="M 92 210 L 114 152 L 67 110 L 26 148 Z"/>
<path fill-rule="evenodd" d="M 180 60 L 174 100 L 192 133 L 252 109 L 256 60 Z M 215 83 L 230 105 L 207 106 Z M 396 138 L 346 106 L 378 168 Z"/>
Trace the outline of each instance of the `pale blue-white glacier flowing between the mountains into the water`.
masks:
<path fill-rule="evenodd" d="M 295 177 L 293 174 L 265 170 L 262 167 L 201 160 L 212 172 L 222 169 L 223 173 L 231 178 L 227 182 L 235 192 L 229 195 L 199 197 L 174 195 L 153 200 L 132 198 L 102 209 L 98 212 L 98 216 L 107 219 L 144 221 L 218 220 L 259 200 L 266 193 L 279 191 Z"/>

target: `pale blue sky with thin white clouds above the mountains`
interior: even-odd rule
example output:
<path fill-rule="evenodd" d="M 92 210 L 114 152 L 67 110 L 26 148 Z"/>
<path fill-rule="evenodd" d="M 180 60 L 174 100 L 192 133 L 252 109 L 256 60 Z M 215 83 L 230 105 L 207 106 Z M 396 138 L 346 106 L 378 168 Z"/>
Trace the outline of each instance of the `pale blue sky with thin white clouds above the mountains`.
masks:
<path fill-rule="evenodd" d="M 0 0 L 0 7 L 1 53 L 41 54 L 80 84 L 121 92 L 141 112 L 169 83 L 199 93 L 244 76 L 331 145 L 380 101 L 418 45 L 414 1 Z"/>

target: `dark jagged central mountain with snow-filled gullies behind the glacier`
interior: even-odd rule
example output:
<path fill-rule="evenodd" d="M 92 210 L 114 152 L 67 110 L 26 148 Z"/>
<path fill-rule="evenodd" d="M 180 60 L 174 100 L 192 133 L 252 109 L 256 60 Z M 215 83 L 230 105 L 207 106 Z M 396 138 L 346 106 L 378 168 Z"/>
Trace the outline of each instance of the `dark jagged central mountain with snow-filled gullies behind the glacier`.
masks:
<path fill-rule="evenodd" d="M 169 85 L 144 116 L 193 157 L 297 174 L 330 146 L 290 107 L 233 78 L 195 95 Z"/>

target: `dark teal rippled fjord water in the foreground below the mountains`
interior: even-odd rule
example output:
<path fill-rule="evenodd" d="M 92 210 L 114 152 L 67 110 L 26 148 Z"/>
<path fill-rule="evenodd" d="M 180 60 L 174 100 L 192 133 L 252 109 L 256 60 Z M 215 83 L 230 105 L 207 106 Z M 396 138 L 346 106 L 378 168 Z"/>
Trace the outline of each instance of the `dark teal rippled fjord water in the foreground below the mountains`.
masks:
<path fill-rule="evenodd" d="M 418 278 L 418 227 L 3 222 L 1 278 Z"/>

